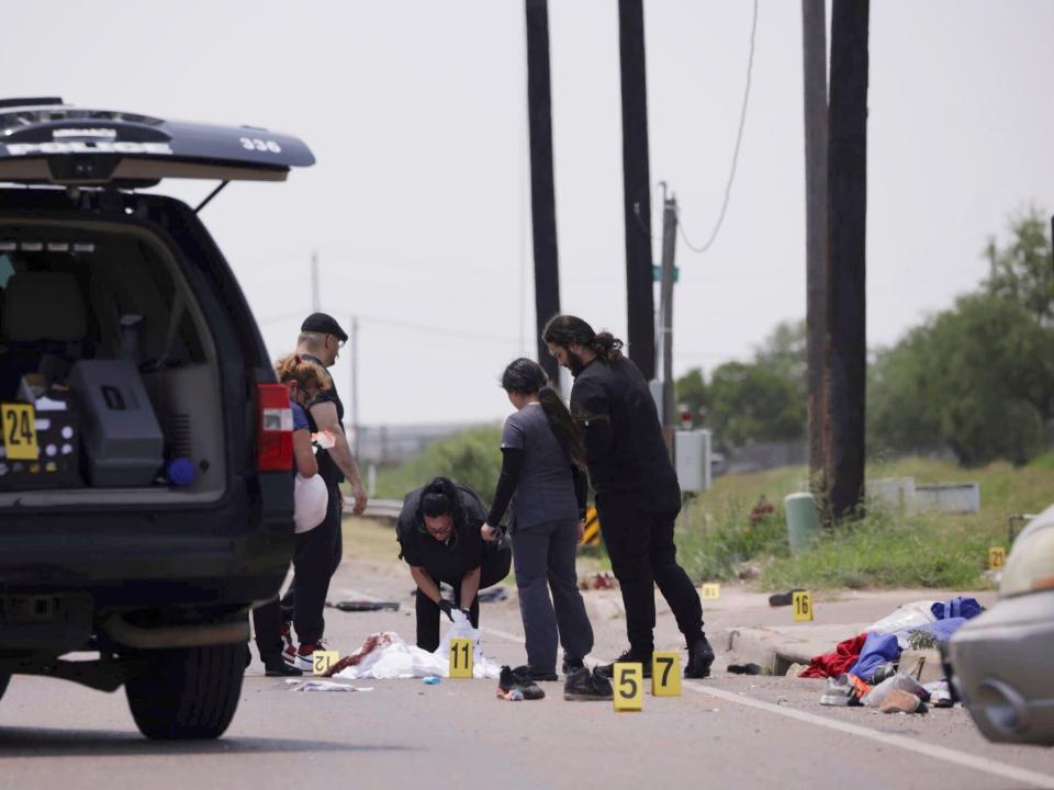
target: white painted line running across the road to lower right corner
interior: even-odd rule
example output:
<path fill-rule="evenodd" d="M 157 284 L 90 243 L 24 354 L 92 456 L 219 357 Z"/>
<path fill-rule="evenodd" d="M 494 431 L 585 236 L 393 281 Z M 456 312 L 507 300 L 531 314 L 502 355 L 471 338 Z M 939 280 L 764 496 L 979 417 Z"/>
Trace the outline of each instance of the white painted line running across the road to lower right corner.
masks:
<path fill-rule="evenodd" d="M 973 768 L 974 770 L 985 771 L 986 774 L 991 774 L 1000 779 L 1010 779 L 1024 785 L 1031 785 L 1039 788 L 1050 788 L 1054 790 L 1054 777 L 1046 774 L 1039 774 L 1036 771 L 1031 771 L 1025 768 L 1018 768 L 1016 766 L 1007 765 L 1006 763 L 999 763 L 998 760 L 988 759 L 986 757 L 977 757 L 964 752 L 956 752 L 954 749 L 945 748 L 944 746 L 935 746 L 933 744 L 912 741 L 904 735 L 892 735 L 889 733 L 878 732 L 877 730 L 871 730 L 870 727 L 860 726 L 859 724 L 850 724 L 837 719 L 828 719 L 826 716 L 817 715 L 816 713 L 807 713 L 805 711 L 795 710 L 794 708 L 775 706 L 772 702 L 753 699 L 752 697 L 745 697 L 732 691 L 726 691 L 725 689 L 699 686 L 698 684 L 694 682 L 685 682 L 684 687 L 689 688 L 697 693 L 709 695 L 710 697 L 722 699 L 726 702 L 736 702 L 737 704 L 747 706 L 748 708 L 756 708 L 758 710 L 775 713 L 777 715 L 786 716 L 787 719 L 796 719 L 797 721 L 805 722 L 806 724 L 815 724 L 816 726 L 827 727 L 828 730 L 837 730 L 838 732 L 848 733 L 850 735 L 859 735 L 867 738 L 872 743 L 878 742 L 888 746 L 897 746 L 898 748 L 920 754 L 923 757 L 940 759 L 944 760 L 945 763 L 953 763 L 957 766 L 962 766 L 963 768 Z"/>

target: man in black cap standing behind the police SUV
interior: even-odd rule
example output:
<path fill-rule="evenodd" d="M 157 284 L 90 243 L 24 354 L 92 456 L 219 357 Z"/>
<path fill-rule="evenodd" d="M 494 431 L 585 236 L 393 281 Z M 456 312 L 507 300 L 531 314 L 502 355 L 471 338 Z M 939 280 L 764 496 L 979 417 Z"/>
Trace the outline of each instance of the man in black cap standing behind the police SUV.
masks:
<path fill-rule="evenodd" d="M 328 369 L 337 361 L 347 339 L 348 334 L 333 316 L 313 313 L 300 327 L 296 353 L 323 369 Z M 326 594 L 329 591 L 329 578 L 340 564 L 344 553 L 340 535 L 344 496 L 340 493 L 340 483 L 347 478 L 351 485 L 351 496 L 355 498 L 351 512 L 361 516 L 367 504 L 362 478 L 344 432 L 344 404 L 337 395 L 333 376 L 329 376 L 329 387 L 321 391 L 307 404 L 307 419 L 312 433 L 328 432 L 333 436 L 334 445 L 328 450 L 319 450 L 317 454 L 318 476 L 329 490 L 326 518 L 315 529 L 296 535 L 296 575 L 289 592 L 282 599 L 284 619 L 287 622 L 289 619 L 293 620 L 300 639 L 300 647 L 293 648 L 287 624 L 283 629 L 287 642 L 285 659 L 301 669 L 311 669 L 312 653 L 325 648 L 322 635 L 325 630 L 323 611 Z"/>

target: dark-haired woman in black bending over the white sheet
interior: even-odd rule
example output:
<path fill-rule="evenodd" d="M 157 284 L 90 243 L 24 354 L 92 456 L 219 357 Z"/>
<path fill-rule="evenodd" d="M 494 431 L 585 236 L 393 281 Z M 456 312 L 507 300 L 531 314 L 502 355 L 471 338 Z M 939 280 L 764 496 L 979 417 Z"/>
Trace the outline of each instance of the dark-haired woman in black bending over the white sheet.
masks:
<path fill-rule="evenodd" d="M 504 540 L 484 541 L 480 527 L 486 511 L 471 488 L 436 477 L 403 499 L 396 539 L 400 558 L 417 584 L 417 646 L 439 647 L 439 613 L 453 620 L 459 608 L 474 628 L 480 625 L 483 587 L 508 576 L 513 554 Z M 439 583 L 453 588 L 453 601 L 442 597 Z"/>

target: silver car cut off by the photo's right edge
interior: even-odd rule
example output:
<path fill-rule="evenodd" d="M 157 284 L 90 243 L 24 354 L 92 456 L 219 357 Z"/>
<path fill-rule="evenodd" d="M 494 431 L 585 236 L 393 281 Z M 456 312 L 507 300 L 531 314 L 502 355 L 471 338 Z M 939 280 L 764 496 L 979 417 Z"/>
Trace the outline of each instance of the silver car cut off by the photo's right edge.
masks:
<path fill-rule="evenodd" d="M 985 737 L 1054 746 L 1054 506 L 1014 540 L 999 602 L 949 650 L 952 684 Z"/>

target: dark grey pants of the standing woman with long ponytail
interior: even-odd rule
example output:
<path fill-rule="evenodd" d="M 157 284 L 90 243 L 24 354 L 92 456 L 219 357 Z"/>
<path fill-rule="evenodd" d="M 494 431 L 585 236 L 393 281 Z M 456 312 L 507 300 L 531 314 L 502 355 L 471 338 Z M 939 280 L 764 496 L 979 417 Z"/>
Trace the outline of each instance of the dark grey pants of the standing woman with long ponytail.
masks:
<path fill-rule="evenodd" d="M 558 632 L 570 658 L 582 659 L 593 650 L 593 627 L 574 568 L 578 543 L 579 524 L 574 519 L 517 524 L 513 533 L 527 663 L 545 673 L 557 668 Z"/>

